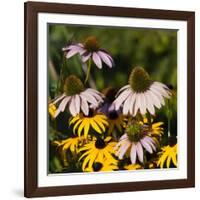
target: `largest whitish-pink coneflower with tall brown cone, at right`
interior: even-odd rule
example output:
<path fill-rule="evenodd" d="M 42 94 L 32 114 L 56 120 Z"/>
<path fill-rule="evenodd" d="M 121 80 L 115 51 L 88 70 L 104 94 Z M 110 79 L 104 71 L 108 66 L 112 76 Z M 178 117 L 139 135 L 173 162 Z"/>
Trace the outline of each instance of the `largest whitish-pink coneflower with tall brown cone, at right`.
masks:
<path fill-rule="evenodd" d="M 135 67 L 130 74 L 129 84 L 122 87 L 116 100 L 115 109 L 123 108 L 123 114 L 136 116 L 149 112 L 155 114 L 155 107 L 165 105 L 164 98 L 170 98 L 168 87 L 157 81 L 152 81 L 149 74 L 142 67 Z"/>

